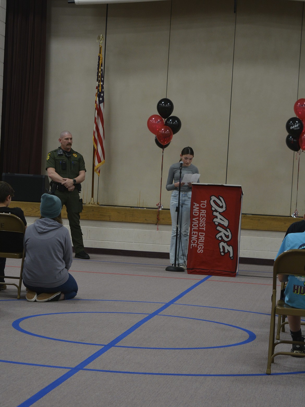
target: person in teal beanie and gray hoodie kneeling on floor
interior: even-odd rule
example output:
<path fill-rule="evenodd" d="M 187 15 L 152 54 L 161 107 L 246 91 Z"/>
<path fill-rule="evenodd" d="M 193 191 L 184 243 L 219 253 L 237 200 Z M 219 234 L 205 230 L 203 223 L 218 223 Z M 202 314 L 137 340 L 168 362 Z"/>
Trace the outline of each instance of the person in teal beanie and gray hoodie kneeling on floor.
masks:
<path fill-rule="evenodd" d="M 61 220 L 61 200 L 50 194 L 41 197 L 40 219 L 26 229 L 22 280 L 30 302 L 74 298 L 77 283 L 68 270 L 72 264 L 72 244 Z"/>

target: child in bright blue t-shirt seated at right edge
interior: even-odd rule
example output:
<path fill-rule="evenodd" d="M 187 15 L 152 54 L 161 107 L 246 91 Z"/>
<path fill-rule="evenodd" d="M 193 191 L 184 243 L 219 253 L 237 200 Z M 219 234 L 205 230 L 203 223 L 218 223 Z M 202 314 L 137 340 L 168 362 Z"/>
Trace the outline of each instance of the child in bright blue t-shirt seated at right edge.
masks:
<path fill-rule="evenodd" d="M 305 232 L 290 233 L 283 240 L 277 256 L 286 250 L 305 249 Z M 276 258 L 277 258 L 276 256 Z M 294 308 L 305 309 L 305 276 L 287 276 L 286 274 L 278 274 L 280 282 L 287 281 L 285 288 L 285 304 Z M 295 315 L 287 315 L 290 334 L 293 341 L 304 342 L 304 337 L 301 331 L 301 317 Z M 305 353 L 304 345 L 292 345 L 292 353 Z"/>

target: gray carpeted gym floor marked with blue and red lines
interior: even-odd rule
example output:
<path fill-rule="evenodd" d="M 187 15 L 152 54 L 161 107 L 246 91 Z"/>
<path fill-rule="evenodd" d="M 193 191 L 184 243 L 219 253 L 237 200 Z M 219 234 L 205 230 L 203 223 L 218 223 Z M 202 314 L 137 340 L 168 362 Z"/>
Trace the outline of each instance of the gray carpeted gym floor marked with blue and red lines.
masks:
<path fill-rule="evenodd" d="M 164 259 L 90 256 L 73 260 L 74 300 L 0 292 L 2 407 L 303 402 L 304 359 L 279 356 L 266 375 L 271 266 L 241 264 L 226 278 L 165 271 Z M 19 265 L 7 259 L 6 274 Z"/>

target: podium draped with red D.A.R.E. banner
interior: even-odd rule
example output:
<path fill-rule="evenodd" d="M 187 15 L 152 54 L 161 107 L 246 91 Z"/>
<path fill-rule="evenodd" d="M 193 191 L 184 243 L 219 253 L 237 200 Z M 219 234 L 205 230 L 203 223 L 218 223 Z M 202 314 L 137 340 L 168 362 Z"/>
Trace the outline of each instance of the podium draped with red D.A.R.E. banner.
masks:
<path fill-rule="evenodd" d="M 238 274 L 242 187 L 192 184 L 187 273 Z"/>

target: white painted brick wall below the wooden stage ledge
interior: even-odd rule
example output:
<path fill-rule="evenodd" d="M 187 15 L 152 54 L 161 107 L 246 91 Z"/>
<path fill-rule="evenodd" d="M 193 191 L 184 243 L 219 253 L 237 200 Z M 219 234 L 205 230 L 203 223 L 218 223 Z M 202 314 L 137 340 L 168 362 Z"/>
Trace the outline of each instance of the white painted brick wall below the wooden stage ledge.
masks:
<path fill-rule="evenodd" d="M 36 218 L 26 217 L 28 225 Z M 63 219 L 68 230 L 68 219 Z M 81 221 L 85 247 L 102 249 L 135 250 L 168 253 L 170 250 L 170 225 L 142 223 Z M 240 257 L 274 259 L 283 241 L 284 232 L 242 230 Z"/>

